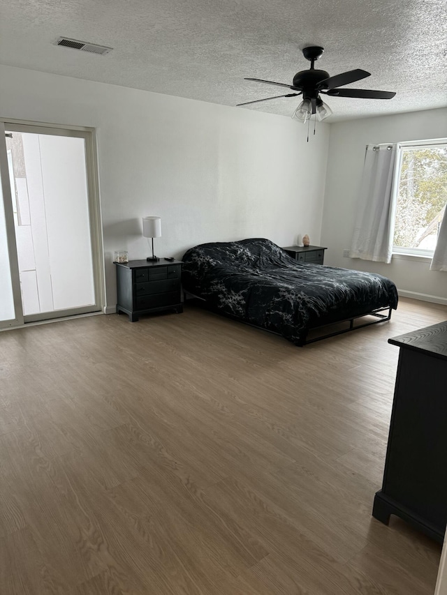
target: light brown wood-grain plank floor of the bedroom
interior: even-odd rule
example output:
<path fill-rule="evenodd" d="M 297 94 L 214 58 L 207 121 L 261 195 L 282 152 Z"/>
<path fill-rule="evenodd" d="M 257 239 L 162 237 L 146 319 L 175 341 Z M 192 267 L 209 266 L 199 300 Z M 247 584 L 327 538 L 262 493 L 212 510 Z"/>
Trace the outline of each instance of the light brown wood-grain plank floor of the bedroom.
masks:
<path fill-rule="evenodd" d="M 371 517 L 398 349 L 295 347 L 185 308 L 0 333 L 0 594 L 425 595 L 440 547 Z"/>

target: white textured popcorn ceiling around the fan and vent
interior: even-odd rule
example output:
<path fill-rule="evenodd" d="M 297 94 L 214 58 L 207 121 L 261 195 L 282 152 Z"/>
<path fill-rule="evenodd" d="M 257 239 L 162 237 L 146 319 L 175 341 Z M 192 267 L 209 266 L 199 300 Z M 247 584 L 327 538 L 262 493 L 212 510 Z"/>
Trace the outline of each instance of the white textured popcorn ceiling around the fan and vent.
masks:
<path fill-rule="evenodd" d="M 446 0 L 0 0 L 0 63 L 235 105 L 282 91 L 244 77 L 291 83 L 310 66 L 301 48 L 322 45 L 317 68 L 362 68 L 372 76 L 350 86 L 397 91 L 328 98 L 340 121 L 447 105 L 446 13 Z M 114 50 L 52 45 L 59 36 Z M 237 109 L 291 115 L 299 100 Z"/>

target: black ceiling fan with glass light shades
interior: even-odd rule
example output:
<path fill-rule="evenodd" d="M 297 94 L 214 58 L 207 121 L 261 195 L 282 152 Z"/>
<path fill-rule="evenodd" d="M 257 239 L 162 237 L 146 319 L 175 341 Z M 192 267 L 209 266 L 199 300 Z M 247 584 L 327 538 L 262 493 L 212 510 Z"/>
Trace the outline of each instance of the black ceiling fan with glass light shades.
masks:
<path fill-rule="evenodd" d="M 373 91 L 372 89 L 338 89 L 339 86 L 350 84 L 358 80 L 362 80 L 371 76 L 366 70 L 349 70 L 346 73 L 329 76 L 325 70 L 317 70 L 314 68 L 314 63 L 323 55 L 324 49 L 319 45 L 311 45 L 302 50 L 304 57 L 310 61 L 309 70 L 300 70 L 299 73 L 293 77 L 292 84 L 281 82 L 266 81 L 263 79 L 246 78 L 248 81 L 262 82 L 265 84 L 274 84 L 277 86 L 285 86 L 298 93 L 287 93 L 286 95 L 277 95 L 274 97 L 266 97 L 265 99 L 256 99 L 254 101 L 246 101 L 245 103 L 238 103 L 240 105 L 249 105 L 250 103 L 259 103 L 261 101 L 268 101 L 270 99 L 278 99 L 280 97 L 297 97 L 302 95 L 302 102 L 293 112 L 292 118 L 305 123 L 310 117 L 315 114 L 319 121 L 328 118 L 332 114 L 330 107 L 326 105 L 320 97 L 320 93 L 330 97 L 356 97 L 360 99 L 392 99 L 396 93 L 392 91 Z"/>

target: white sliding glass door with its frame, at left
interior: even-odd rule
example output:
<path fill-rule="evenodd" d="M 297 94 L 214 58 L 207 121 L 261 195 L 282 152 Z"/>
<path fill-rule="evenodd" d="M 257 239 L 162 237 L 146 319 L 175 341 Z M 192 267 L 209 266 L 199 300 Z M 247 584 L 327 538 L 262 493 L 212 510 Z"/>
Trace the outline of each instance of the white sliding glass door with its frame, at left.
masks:
<path fill-rule="evenodd" d="M 100 311 L 103 273 L 92 132 L 3 126 L 0 233 L 2 225 L 5 233 L 0 244 L 8 247 L 1 271 L 8 287 L 1 292 L 0 325 Z"/>

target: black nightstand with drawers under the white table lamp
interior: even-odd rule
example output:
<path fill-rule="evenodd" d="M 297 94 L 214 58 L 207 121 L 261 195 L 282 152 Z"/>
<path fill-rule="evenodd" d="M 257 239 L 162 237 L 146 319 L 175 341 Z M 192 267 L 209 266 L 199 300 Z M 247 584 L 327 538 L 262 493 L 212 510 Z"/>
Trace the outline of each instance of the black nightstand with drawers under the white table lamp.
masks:
<path fill-rule="evenodd" d="M 183 312 L 182 262 L 130 260 L 117 266 L 117 313 L 125 312 L 131 322 L 142 314 L 161 310 Z"/>

